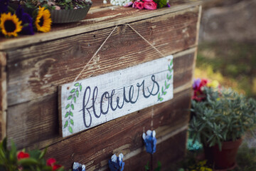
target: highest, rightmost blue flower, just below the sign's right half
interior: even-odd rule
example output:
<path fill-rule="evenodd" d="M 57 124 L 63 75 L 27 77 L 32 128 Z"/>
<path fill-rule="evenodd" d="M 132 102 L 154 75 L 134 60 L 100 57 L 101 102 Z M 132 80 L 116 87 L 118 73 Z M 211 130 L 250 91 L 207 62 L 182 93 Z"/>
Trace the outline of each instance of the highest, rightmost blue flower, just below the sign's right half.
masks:
<path fill-rule="evenodd" d="M 150 154 L 156 152 L 156 131 L 147 130 L 146 134 L 143 133 L 142 138 L 146 145 L 146 152 Z"/>

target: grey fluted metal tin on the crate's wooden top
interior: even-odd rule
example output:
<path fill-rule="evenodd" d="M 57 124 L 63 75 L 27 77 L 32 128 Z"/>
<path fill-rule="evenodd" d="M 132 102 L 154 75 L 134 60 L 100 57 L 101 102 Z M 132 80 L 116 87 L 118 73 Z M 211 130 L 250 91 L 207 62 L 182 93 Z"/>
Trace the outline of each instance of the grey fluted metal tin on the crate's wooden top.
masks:
<path fill-rule="evenodd" d="M 91 6 L 92 4 L 80 9 L 51 9 L 50 17 L 53 24 L 73 23 L 85 19 L 85 16 L 87 15 L 87 12 Z"/>

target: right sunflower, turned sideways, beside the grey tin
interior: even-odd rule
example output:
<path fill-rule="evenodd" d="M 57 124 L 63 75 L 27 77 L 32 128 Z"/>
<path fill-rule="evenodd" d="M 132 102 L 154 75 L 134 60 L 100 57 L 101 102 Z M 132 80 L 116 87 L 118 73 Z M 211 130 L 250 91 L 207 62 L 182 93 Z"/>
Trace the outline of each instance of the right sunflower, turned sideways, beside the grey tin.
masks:
<path fill-rule="evenodd" d="M 41 6 L 39 6 L 38 15 L 36 16 L 35 21 L 37 30 L 42 32 L 50 31 L 51 22 L 50 11 L 44 7 L 41 8 Z"/>

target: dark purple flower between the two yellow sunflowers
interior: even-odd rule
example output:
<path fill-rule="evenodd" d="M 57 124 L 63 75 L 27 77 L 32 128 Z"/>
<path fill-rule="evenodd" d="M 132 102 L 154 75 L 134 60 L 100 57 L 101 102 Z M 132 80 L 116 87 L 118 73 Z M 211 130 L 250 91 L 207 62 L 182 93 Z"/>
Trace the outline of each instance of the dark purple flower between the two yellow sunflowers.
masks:
<path fill-rule="evenodd" d="M 18 19 L 22 21 L 23 27 L 21 33 L 33 35 L 33 19 L 27 13 L 24 13 L 21 6 L 18 6 L 18 9 L 16 9 L 16 16 L 18 16 Z"/>

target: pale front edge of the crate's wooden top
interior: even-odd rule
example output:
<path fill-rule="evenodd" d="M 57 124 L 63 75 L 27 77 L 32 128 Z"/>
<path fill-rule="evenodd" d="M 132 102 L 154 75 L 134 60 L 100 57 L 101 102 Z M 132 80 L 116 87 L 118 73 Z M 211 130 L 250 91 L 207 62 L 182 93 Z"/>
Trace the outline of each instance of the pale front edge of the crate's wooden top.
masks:
<path fill-rule="evenodd" d="M 68 36 L 74 36 L 74 35 L 78 35 L 80 33 L 87 33 L 90 31 L 95 31 L 95 30 L 99 30 L 99 29 L 103 29 L 103 28 L 110 28 L 112 26 L 119 26 L 119 25 L 123 25 L 123 24 L 127 24 L 127 23 L 131 24 L 132 22 L 135 22 L 135 21 L 149 19 L 152 17 L 161 16 L 164 14 L 174 13 L 174 16 L 175 16 L 175 15 L 177 15 L 175 13 L 185 13 L 186 11 L 183 11 L 183 10 L 189 9 L 191 7 L 199 6 L 200 4 L 201 4 L 201 1 L 195 1 L 195 2 L 190 2 L 188 4 L 171 6 L 170 8 L 158 9 L 154 12 L 149 11 L 148 13 L 142 13 L 136 17 L 128 16 L 128 17 L 124 17 L 122 19 L 105 21 L 105 22 L 100 22 L 97 24 L 89 24 L 87 26 L 78 26 L 75 28 L 68 28 L 68 29 L 65 29 L 62 31 L 40 33 L 33 37 L 27 36 L 26 38 L 19 38 L 19 39 L 14 38 L 14 39 L 11 39 L 10 41 L 0 43 L 0 50 L 6 51 L 11 48 L 28 46 L 33 43 L 42 43 L 44 41 L 53 41 L 55 39 L 65 38 Z M 65 36 L 63 36 L 63 35 L 65 35 Z"/>

